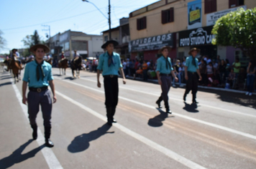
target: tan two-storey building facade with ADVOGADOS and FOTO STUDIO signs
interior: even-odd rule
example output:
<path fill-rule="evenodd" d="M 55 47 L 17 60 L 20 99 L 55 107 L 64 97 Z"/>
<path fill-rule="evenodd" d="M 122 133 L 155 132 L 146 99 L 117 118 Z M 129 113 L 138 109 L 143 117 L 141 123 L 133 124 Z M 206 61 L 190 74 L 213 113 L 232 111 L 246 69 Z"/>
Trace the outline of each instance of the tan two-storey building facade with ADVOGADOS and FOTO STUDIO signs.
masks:
<path fill-rule="evenodd" d="M 192 47 L 201 49 L 201 55 L 234 61 L 242 52 L 233 47 L 211 44 L 211 34 L 219 17 L 242 7 L 252 9 L 252 0 L 162 0 L 129 14 L 131 57 L 157 59 L 160 47 L 172 47 L 171 58 L 188 57 Z"/>

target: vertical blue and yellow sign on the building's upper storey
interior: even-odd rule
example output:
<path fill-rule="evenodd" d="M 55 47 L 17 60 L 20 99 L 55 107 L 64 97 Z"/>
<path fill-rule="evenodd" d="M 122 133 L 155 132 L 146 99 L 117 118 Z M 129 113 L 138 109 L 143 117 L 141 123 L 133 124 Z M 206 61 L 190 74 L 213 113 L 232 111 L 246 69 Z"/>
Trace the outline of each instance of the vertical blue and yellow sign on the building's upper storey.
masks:
<path fill-rule="evenodd" d="M 202 1 L 188 2 L 188 29 L 202 26 Z"/>

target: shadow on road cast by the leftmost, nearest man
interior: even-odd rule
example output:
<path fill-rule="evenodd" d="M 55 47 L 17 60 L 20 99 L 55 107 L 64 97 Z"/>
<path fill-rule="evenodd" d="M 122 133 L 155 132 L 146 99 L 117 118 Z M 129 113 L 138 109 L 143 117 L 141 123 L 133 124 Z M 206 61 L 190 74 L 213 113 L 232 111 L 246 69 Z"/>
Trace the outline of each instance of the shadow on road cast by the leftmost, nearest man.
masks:
<path fill-rule="evenodd" d="M 0 160 L 0 168 L 10 168 L 12 165 L 16 163 L 21 163 L 24 160 L 27 160 L 29 158 L 35 157 L 35 155 L 42 150 L 42 148 L 45 148 L 45 145 L 41 145 L 38 148 L 35 148 L 34 150 L 29 151 L 28 153 L 22 154 L 22 151 L 32 143 L 32 139 L 28 140 L 26 143 L 21 145 L 17 150 L 15 150 L 12 155 L 9 155 L 6 158 L 3 158 Z"/>

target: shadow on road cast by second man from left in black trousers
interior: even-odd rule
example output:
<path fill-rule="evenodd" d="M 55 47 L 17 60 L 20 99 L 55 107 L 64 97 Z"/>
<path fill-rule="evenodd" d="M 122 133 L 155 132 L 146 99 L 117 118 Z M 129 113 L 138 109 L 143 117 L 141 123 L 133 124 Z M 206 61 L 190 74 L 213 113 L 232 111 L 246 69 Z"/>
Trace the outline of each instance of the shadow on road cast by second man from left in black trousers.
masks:
<path fill-rule="evenodd" d="M 102 135 L 106 133 L 114 133 L 108 132 L 111 126 L 107 123 L 99 127 L 97 130 L 93 130 L 89 133 L 84 133 L 82 135 L 78 135 L 74 138 L 74 140 L 68 145 L 68 151 L 70 153 L 78 153 L 86 150 L 90 146 L 90 142 L 98 139 Z"/>

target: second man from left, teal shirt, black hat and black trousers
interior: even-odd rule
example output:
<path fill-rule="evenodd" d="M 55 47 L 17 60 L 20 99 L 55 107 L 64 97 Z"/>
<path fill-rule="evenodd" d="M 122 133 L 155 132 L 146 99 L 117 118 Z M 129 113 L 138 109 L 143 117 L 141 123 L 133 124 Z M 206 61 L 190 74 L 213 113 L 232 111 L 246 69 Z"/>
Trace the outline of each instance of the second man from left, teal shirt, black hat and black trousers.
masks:
<path fill-rule="evenodd" d="M 118 71 L 122 74 L 123 83 L 126 84 L 120 56 L 114 52 L 114 47 L 116 47 L 116 45 L 118 45 L 118 42 L 110 40 L 101 46 L 102 49 L 106 49 L 106 52 L 99 56 L 99 64 L 97 67 L 98 87 L 101 87 L 99 74 L 101 70 L 103 70 L 102 76 L 104 77 L 105 105 L 108 125 L 112 125 L 112 122 L 116 122 L 116 120 L 114 120 L 114 114 L 118 102 Z"/>

